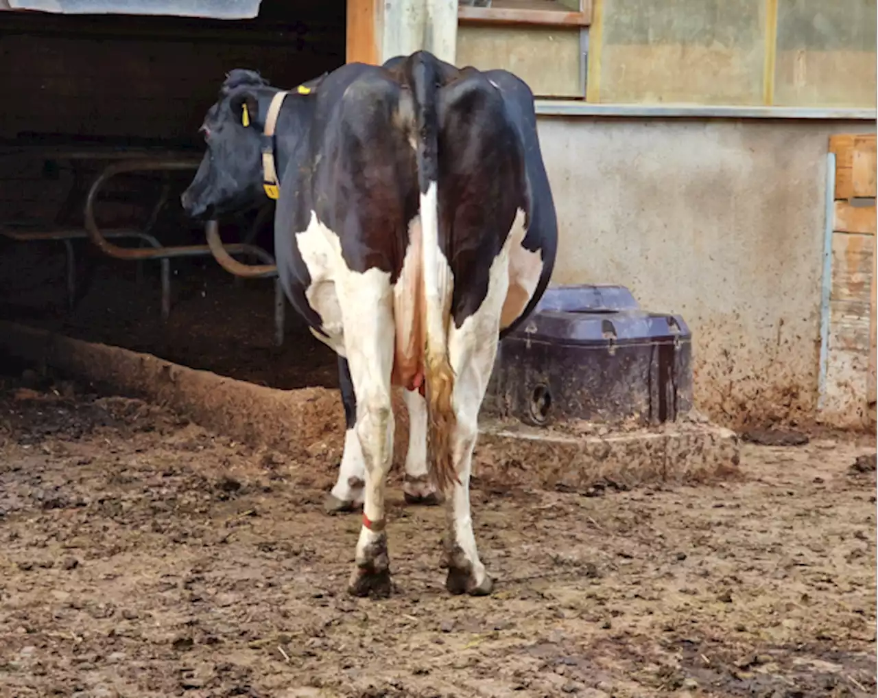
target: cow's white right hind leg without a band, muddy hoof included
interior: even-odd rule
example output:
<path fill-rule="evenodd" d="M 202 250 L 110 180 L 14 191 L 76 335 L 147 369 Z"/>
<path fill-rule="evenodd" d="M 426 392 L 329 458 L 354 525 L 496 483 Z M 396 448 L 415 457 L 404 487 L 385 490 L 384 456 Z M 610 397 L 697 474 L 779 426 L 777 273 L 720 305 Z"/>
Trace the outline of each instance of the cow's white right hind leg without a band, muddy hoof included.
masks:
<path fill-rule="evenodd" d="M 491 377 L 500 333 L 500 307 L 506 297 L 507 274 L 502 271 L 505 255 L 500 255 L 492 269 L 490 291 L 479 310 L 464 320 L 461 327 L 451 323 L 449 359 L 455 372 L 454 410 L 457 425 L 453 435 L 454 463 L 459 484 L 448 500 L 448 532 L 445 538 L 445 563 L 448 577 L 445 586 L 452 594 L 482 596 L 491 594 L 493 579 L 479 560 L 472 531 L 470 475 L 472 450 L 479 434 L 479 407 L 485 398 Z M 496 269 L 500 266 L 500 270 Z"/>

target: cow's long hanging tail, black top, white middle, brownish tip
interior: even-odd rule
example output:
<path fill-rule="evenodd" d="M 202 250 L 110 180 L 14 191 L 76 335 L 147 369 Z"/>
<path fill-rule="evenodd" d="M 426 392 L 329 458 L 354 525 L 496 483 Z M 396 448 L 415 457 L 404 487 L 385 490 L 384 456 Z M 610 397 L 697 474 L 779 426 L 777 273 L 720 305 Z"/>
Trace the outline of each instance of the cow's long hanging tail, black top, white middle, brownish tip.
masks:
<path fill-rule="evenodd" d="M 448 326 L 453 281 L 445 250 L 439 239 L 437 187 L 436 89 L 438 73 L 429 54 L 414 54 L 409 62 L 414 97 L 418 186 L 421 190 L 421 279 L 424 299 L 424 373 L 427 385 L 428 464 L 441 491 L 459 482 L 454 467 L 455 414 L 452 403 L 454 371 L 448 354 Z"/>

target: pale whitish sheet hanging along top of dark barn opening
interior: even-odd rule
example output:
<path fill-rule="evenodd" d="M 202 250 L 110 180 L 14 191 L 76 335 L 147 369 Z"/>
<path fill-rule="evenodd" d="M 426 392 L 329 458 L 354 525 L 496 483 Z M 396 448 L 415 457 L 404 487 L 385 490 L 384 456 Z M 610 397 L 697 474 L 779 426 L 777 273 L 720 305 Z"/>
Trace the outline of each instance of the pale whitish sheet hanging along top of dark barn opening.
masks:
<path fill-rule="evenodd" d="M 261 0 L 0 0 L 0 11 L 32 10 L 61 15 L 164 15 L 252 19 Z"/>

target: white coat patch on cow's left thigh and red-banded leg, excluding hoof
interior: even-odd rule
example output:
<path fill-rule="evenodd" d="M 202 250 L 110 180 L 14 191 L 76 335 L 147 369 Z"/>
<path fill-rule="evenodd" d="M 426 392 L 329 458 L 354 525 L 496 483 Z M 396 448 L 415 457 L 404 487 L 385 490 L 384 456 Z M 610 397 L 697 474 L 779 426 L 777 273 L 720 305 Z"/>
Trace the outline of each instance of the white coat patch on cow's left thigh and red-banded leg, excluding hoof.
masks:
<path fill-rule="evenodd" d="M 356 395 L 354 430 L 365 473 L 363 515 L 382 522 L 393 439 L 390 387 L 395 333 L 390 273 L 350 270 L 339 236 L 315 212 L 305 232 L 296 234 L 296 243 L 311 277 L 306 299 L 320 313 L 327 333 L 320 339 L 348 359 Z M 363 526 L 356 547 L 358 563 L 365 560 L 367 546 L 381 536 L 382 532 Z"/>

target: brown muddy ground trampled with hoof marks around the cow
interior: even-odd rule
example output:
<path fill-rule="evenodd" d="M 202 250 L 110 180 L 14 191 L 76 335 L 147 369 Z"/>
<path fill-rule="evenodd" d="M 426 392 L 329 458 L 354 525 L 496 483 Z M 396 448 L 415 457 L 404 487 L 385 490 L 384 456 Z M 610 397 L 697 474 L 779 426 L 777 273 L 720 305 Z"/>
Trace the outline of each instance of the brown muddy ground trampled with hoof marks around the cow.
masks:
<path fill-rule="evenodd" d="M 443 512 L 394 482 L 370 601 L 344 593 L 358 517 L 321 510 L 338 454 L 5 379 L 0 695 L 874 695 L 868 446 L 745 444 L 737 479 L 632 492 L 477 465 L 482 599 L 445 593 Z"/>

